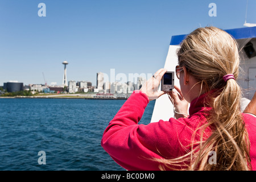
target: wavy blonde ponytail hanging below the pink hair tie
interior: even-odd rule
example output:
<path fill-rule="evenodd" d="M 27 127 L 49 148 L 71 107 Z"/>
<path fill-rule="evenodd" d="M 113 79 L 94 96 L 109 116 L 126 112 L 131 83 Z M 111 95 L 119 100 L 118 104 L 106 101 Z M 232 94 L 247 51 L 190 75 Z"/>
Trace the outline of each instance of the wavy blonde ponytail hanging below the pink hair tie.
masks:
<path fill-rule="evenodd" d="M 213 140 L 217 165 L 205 164 L 209 170 L 250 170 L 250 143 L 240 111 L 241 89 L 233 79 L 226 81 L 213 98 L 210 123 L 215 130 L 205 143 Z"/>

